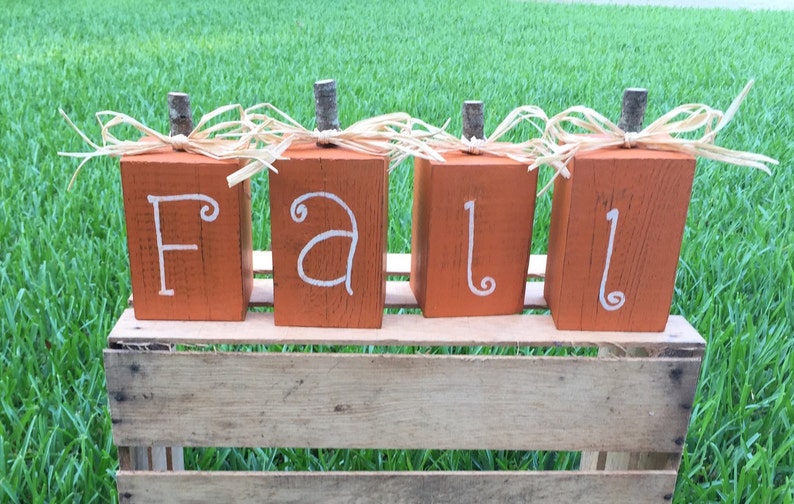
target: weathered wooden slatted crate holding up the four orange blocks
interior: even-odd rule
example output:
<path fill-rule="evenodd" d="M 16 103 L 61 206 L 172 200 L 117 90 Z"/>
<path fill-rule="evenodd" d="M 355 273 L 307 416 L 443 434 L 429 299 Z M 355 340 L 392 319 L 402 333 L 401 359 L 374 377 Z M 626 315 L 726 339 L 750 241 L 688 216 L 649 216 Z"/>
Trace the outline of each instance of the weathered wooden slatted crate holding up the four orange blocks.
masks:
<path fill-rule="evenodd" d="M 255 270 L 270 269 L 255 252 Z M 389 255 L 407 275 L 408 255 Z M 532 256 L 529 276 L 545 271 Z M 525 304 L 543 307 L 543 282 Z M 416 306 L 407 281 L 386 304 Z M 272 304 L 255 279 L 253 306 Z M 599 357 L 269 353 L 174 345 L 597 347 Z M 127 310 L 105 351 L 120 502 L 669 502 L 704 340 L 682 317 L 661 333 L 559 331 L 549 315 L 426 319 L 381 329 L 142 321 Z M 225 347 L 232 348 L 232 347 Z M 582 451 L 579 471 L 213 472 L 181 446 Z M 171 448 L 167 448 L 171 447 Z"/>

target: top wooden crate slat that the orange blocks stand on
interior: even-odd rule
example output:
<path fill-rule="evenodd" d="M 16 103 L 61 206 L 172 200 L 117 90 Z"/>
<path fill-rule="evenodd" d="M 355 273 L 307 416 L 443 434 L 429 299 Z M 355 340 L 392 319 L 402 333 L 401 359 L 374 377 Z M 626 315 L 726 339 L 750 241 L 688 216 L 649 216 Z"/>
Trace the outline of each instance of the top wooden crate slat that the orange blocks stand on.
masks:
<path fill-rule="evenodd" d="M 272 313 L 249 312 L 244 322 L 137 320 L 127 309 L 110 333 L 111 347 L 162 344 L 408 345 L 643 347 L 702 351 L 705 341 L 680 316 L 661 333 L 558 331 L 548 315 L 426 319 L 384 315 L 382 329 L 284 327 Z"/>

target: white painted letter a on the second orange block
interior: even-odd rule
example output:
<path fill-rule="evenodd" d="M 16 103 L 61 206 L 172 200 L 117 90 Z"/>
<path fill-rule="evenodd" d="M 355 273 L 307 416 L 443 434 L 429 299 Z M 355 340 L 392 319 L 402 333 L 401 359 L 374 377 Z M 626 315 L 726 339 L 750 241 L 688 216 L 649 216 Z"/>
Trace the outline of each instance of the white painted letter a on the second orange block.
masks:
<path fill-rule="evenodd" d="M 358 245 L 358 224 L 356 223 L 356 216 L 353 215 L 353 211 L 350 210 L 350 207 L 347 206 L 347 203 L 342 201 L 342 199 L 336 194 L 329 192 L 313 192 L 299 196 L 295 198 L 295 201 L 292 202 L 289 211 L 293 221 L 300 223 L 306 220 L 309 210 L 306 208 L 306 205 L 303 204 L 303 202 L 311 198 L 326 198 L 344 208 L 345 212 L 347 212 L 347 216 L 350 218 L 350 225 L 353 230 L 346 231 L 344 229 L 331 229 L 325 231 L 324 233 L 320 233 L 309 240 L 309 243 L 307 243 L 306 246 L 301 249 L 300 255 L 298 255 L 298 276 L 307 284 L 317 287 L 333 287 L 344 282 L 347 293 L 352 296 L 353 287 L 351 286 L 351 275 L 353 272 L 353 256 L 356 254 L 356 246 Z M 303 270 L 303 261 L 306 259 L 306 254 L 308 254 L 309 251 L 318 243 L 338 237 L 350 238 L 350 252 L 347 254 L 347 270 L 345 274 L 339 278 L 334 278 L 333 280 L 319 280 L 307 275 Z"/>

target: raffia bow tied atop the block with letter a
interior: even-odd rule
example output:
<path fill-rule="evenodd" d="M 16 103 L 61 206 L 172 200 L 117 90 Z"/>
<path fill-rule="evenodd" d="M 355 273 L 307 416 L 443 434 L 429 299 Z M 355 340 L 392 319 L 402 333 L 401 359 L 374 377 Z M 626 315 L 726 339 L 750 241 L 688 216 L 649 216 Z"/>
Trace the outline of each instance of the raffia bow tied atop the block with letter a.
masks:
<path fill-rule="evenodd" d="M 280 144 L 287 140 L 292 144 L 336 145 L 363 154 L 388 156 L 390 170 L 409 156 L 444 161 L 426 142 L 443 130 L 415 129 L 415 126 L 421 125 L 420 122 L 404 112 L 364 119 L 343 130 L 326 131 L 309 130 L 270 103 L 248 108 L 245 117 L 253 135 L 266 144 Z M 248 165 L 229 175 L 226 180 L 231 187 L 266 167 L 278 172 L 272 165 Z"/>

